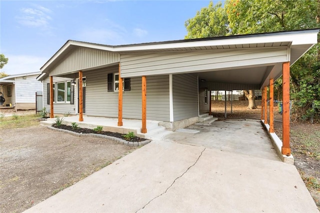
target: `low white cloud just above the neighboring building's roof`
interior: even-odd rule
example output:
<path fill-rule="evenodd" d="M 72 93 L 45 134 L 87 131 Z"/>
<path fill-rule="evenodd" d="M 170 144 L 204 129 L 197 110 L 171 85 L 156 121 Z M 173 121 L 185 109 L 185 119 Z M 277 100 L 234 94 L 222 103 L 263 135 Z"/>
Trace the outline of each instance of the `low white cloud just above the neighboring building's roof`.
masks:
<path fill-rule="evenodd" d="M 40 67 L 49 57 L 38 57 L 33 55 L 10 55 L 5 54 L 8 63 L 0 71 L 6 74 L 19 74 L 40 71 Z"/>

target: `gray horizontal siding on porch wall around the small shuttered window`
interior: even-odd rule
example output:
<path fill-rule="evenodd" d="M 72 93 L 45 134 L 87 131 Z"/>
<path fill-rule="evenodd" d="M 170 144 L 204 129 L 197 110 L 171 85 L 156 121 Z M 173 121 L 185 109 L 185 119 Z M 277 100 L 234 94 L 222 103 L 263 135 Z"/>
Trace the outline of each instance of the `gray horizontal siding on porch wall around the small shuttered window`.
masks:
<path fill-rule="evenodd" d="M 83 72 L 86 115 L 118 117 L 118 92 L 107 92 L 107 74 L 117 71 L 112 66 Z M 141 119 L 141 83 L 141 77 L 133 77 L 130 91 L 123 91 L 123 118 Z M 146 86 L 146 118 L 169 121 L 168 75 L 148 76 Z"/>

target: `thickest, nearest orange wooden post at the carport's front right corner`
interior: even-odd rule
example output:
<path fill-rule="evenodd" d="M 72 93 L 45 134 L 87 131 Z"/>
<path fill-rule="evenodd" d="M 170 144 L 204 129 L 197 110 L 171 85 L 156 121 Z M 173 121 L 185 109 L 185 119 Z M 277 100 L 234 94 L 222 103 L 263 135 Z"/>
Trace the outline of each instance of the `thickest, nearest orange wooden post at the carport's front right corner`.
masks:
<path fill-rule="evenodd" d="M 281 153 L 289 156 L 290 150 L 290 62 L 282 64 L 282 147 Z"/>

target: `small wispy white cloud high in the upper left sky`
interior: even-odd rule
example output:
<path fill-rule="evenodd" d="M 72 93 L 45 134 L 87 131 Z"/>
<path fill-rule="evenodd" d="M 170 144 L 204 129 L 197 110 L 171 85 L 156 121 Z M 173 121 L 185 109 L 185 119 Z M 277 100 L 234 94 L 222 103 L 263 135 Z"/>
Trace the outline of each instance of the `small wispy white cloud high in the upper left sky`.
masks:
<path fill-rule="evenodd" d="M 34 8 L 21 8 L 21 14 L 17 16 L 20 24 L 28 27 L 49 28 L 49 21 L 52 20 L 49 13 L 51 10 L 41 5 L 34 5 Z"/>

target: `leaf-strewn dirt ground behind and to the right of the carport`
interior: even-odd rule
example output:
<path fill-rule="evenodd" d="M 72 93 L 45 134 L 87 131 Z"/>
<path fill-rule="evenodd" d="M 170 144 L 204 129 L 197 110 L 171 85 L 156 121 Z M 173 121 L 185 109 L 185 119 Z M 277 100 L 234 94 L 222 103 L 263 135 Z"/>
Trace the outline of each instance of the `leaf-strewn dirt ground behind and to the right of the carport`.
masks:
<path fill-rule="evenodd" d="M 258 109 L 247 109 L 247 101 L 227 101 L 227 118 L 260 119 L 261 100 L 256 100 Z M 212 114 L 220 119 L 224 118 L 224 101 L 212 101 Z M 269 107 L 268 107 L 269 110 Z M 274 131 L 282 138 L 282 115 L 278 113 L 275 104 Z M 269 115 L 267 115 L 269 119 Z M 320 210 L 320 123 L 297 121 L 290 122 L 290 148 L 297 167 L 311 196 Z"/>

